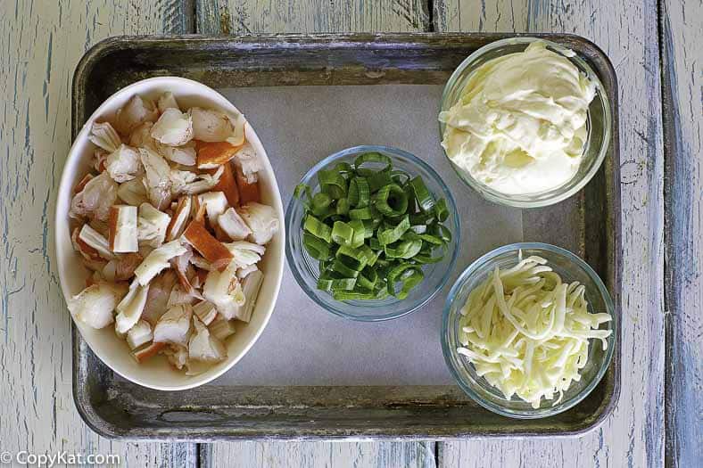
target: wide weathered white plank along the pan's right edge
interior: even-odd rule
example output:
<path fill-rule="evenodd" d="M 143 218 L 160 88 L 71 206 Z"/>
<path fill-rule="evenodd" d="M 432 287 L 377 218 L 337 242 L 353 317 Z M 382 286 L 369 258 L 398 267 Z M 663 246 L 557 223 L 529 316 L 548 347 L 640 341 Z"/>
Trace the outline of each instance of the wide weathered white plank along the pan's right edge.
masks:
<path fill-rule="evenodd" d="M 655 0 L 435 2 L 436 30 L 568 32 L 590 38 L 608 53 L 619 82 L 624 210 L 625 365 L 615 414 L 580 439 L 441 444 L 444 466 L 663 463 L 663 152 L 657 18 Z"/>

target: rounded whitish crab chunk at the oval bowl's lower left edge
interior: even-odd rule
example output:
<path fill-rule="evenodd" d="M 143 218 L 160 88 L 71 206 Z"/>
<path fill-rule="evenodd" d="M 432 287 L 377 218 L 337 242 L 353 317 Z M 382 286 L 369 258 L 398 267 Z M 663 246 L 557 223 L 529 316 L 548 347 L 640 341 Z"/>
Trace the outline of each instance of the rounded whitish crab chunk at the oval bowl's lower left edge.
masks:
<path fill-rule="evenodd" d="M 68 300 L 72 316 L 93 328 L 112 324 L 112 312 L 127 293 L 127 287 L 111 283 L 95 283 Z"/>

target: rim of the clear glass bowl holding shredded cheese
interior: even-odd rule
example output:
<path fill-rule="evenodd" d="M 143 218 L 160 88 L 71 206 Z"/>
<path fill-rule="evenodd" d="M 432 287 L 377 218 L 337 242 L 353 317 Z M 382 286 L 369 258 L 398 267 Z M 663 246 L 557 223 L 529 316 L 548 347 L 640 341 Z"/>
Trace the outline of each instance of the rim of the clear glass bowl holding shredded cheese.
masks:
<path fill-rule="evenodd" d="M 450 354 L 455 353 L 456 351 L 454 349 L 449 349 L 449 343 L 447 342 L 447 336 L 450 333 L 450 314 L 451 314 L 451 305 L 456 300 L 457 295 L 459 294 L 459 290 L 461 287 L 464 285 L 464 283 L 467 282 L 469 278 L 471 278 L 472 275 L 476 273 L 476 269 L 478 267 L 483 266 L 485 263 L 492 261 L 492 259 L 495 259 L 496 257 L 510 251 L 515 251 L 515 250 L 548 250 L 551 253 L 556 253 L 573 263 L 577 267 L 580 267 L 583 269 L 583 271 L 588 275 L 593 283 L 596 285 L 596 289 L 599 291 L 600 296 L 603 298 L 603 300 L 606 303 L 606 308 L 608 309 L 608 312 L 610 315 L 613 317 L 610 324 L 611 324 L 611 330 L 612 333 L 610 333 L 610 336 L 608 336 L 608 349 L 605 351 L 606 356 L 603 359 L 602 363 L 600 364 L 600 369 L 598 370 L 598 373 L 595 374 L 593 379 L 591 379 L 591 382 L 586 385 L 583 390 L 578 392 L 573 398 L 568 399 L 567 401 L 562 401 L 558 403 L 557 406 L 545 406 L 542 407 L 540 406 L 539 408 L 536 409 L 525 409 L 525 410 L 515 410 L 515 409 L 509 409 L 505 406 L 500 406 L 494 404 L 492 401 L 488 401 L 481 397 L 476 391 L 473 389 L 473 386 L 468 383 L 461 373 L 459 372 L 459 369 L 455 367 L 453 364 Z M 457 382 L 457 385 L 459 385 L 459 388 L 464 391 L 464 393 L 467 394 L 467 396 L 476 403 L 478 403 L 480 406 L 483 406 L 485 409 L 488 409 L 492 411 L 493 413 L 496 413 L 498 415 L 503 415 L 503 416 L 508 416 L 511 418 L 515 419 L 538 419 L 542 417 L 549 417 L 553 415 L 558 415 L 559 413 L 563 413 L 567 411 L 568 409 L 578 405 L 583 401 L 584 398 L 586 398 L 593 389 L 595 389 L 596 385 L 599 384 L 599 382 L 602 380 L 603 376 L 608 372 L 608 367 L 610 367 L 610 364 L 613 360 L 613 356 L 615 354 L 615 349 L 616 346 L 618 346 L 617 343 L 617 336 L 620 330 L 620 323 L 619 323 L 619 316 L 616 314 L 616 309 L 615 309 L 615 304 L 612 300 L 612 297 L 610 296 L 610 293 L 608 291 L 608 288 L 606 287 L 605 283 L 600 279 L 600 275 L 596 273 L 593 268 L 586 263 L 583 259 L 575 255 L 575 253 L 563 249 L 561 247 L 558 247 L 556 245 L 552 245 L 550 243 L 545 243 L 545 242 L 514 242 L 510 243 L 507 245 L 503 245 L 501 247 L 498 247 L 497 249 L 493 249 L 478 259 L 474 260 L 463 272 L 461 272 L 461 275 L 459 275 L 459 278 L 457 278 L 457 281 L 451 286 L 451 290 L 449 292 L 449 295 L 447 296 L 447 299 L 444 302 L 444 308 L 442 310 L 442 332 L 440 336 L 440 341 L 442 342 L 442 355 L 444 356 L 444 362 L 449 368 L 449 371 L 451 373 L 451 376 L 454 378 L 454 380 Z"/>

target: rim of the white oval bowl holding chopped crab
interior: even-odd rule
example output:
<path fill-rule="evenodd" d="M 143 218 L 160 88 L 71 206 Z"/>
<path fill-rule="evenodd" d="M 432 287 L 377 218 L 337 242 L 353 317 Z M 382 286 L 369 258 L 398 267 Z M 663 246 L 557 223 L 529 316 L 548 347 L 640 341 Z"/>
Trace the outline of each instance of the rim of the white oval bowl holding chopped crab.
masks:
<path fill-rule="evenodd" d="M 225 111 L 227 113 L 230 113 L 231 111 L 236 111 L 239 112 L 239 110 L 236 108 L 236 106 L 231 103 L 227 98 L 219 94 L 218 91 L 212 89 L 210 86 L 204 85 L 203 83 L 200 83 L 199 81 L 195 81 L 193 79 L 188 79 L 188 78 L 181 78 L 181 77 L 175 77 L 175 76 L 163 76 L 163 77 L 152 77 L 152 78 L 145 78 L 145 79 L 140 79 L 134 83 L 129 84 L 128 86 L 124 86 L 120 88 L 118 91 L 115 93 L 111 94 L 108 98 L 106 98 L 103 103 L 101 103 L 93 113 L 90 114 L 90 117 L 86 119 L 86 122 L 82 125 L 82 127 L 79 130 L 79 133 L 76 135 L 75 138 L 73 138 L 72 144 L 70 145 L 70 150 L 67 153 L 66 160 L 63 162 L 63 168 L 62 168 L 62 176 L 59 180 L 59 186 L 58 190 L 56 191 L 56 198 L 54 199 L 56 202 L 56 206 L 54 208 L 54 253 L 56 255 L 56 263 L 57 263 L 57 272 L 59 275 L 59 283 L 61 285 L 61 290 L 62 290 L 62 296 L 63 300 L 68 303 L 68 299 L 72 296 L 71 292 L 69 290 L 68 286 L 68 280 L 66 279 L 65 275 L 67 275 L 67 272 L 70 269 L 70 259 L 68 255 L 63 255 L 60 254 L 59 252 L 62 250 L 62 241 L 65 240 L 65 236 L 62 234 L 62 229 L 61 226 L 63 223 L 67 222 L 68 218 L 68 211 L 65 210 L 66 207 L 62 206 L 60 203 L 60 200 L 62 198 L 62 193 L 65 192 L 66 190 L 70 190 L 70 187 L 67 189 L 66 187 L 70 185 L 71 179 L 75 177 L 75 173 L 70 172 L 67 170 L 67 167 L 69 166 L 70 162 L 72 160 L 79 159 L 81 157 L 81 152 L 79 151 L 82 149 L 82 147 L 88 143 L 87 137 L 88 133 L 90 131 L 91 124 L 95 122 L 96 119 L 100 119 L 103 114 L 110 113 L 112 111 L 116 111 L 117 109 L 113 109 L 115 106 L 114 101 L 118 100 L 120 97 L 124 96 L 125 94 L 137 94 L 139 92 L 153 92 L 154 88 L 160 89 L 162 88 L 163 91 L 168 90 L 168 89 L 174 89 L 176 88 L 179 84 L 184 84 L 188 86 L 194 86 L 196 88 L 200 88 L 201 91 L 199 91 L 197 94 L 202 95 L 203 97 L 207 97 L 211 99 L 212 101 L 216 102 L 216 105 L 219 106 L 219 109 L 222 111 Z M 143 89 L 147 88 L 147 89 Z M 240 112 L 241 113 L 241 112 Z M 270 182 L 271 185 L 275 188 L 275 190 L 272 191 L 271 195 L 273 198 L 273 208 L 276 209 L 277 211 L 277 216 L 278 217 L 283 217 L 284 211 L 283 211 L 283 201 L 281 198 L 281 192 L 280 188 L 278 186 L 278 182 L 276 179 L 276 174 L 274 173 L 274 170 L 271 166 L 270 160 L 269 160 L 269 155 L 266 152 L 266 149 L 264 148 L 263 144 L 261 143 L 261 139 L 259 138 L 259 135 L 256 134 L 255 129 L 252 126 L 247 126 L 248 130 L 251 130 L 253 138 L 252 143 L 257 146 L 258 148 L 261 148 L 262 153 L 261 153 L 261 161 L 263 162 L 264 165 L 264 170 L 266 171 L 268 177 L 270 177 Z M 72 197 L 71 197 L 72 198 Z M 62 209 L 64 208 L 64 209 Z M 279 223 L 279 231 L 278 231 L 278 236 L 280 236 L 280 247 L 279 250 L 285 250 L 285 224 L 284 223 Z M 194 375 L 194 376 L 186 376 L 186 374 L 183 374 L 184 379 L 188 379 L 189 382 L 185 382 L 182 384 L 174 384 L 174 385 L 163 385 L 163 384 L 153 384 L 150 382 L 145 382 L 144 380 L 140 379 L 139 377 L 136 377 L 134 375 L 130 375 L 128 372 L 120 372 L 120 370 L 117 368 L 118 365 L 116 365 L 115 362 L 113 362 L 113 359 L 109 356 L 106 356 L 106 354 L 109 353 L 103 353 L 103 350 L 100 349 L 100 347 L 94 347 L 92 340 L 88 339 L 88 337 L 83 333 L 84 327 L 87 327 L 87 325 L 84 324 L 79 324 L 79 322 L 75 319 L 75 317 L 69 313 L 71 322 L 74 327 L 76 327 L 79 330 L 80 337 L 86 341 L 88 348 L 95 354 L 96 357 L 100 359 L 101 362 L 103 362 L 104 365 L 107 365 L 112 372 L 115 374 L 120 375 L 120 377 L 128 380 L 129 382 L 136 383 L 137 385 L 141 385 L 143 387 L 153 389 L 153 390 L 167 390 L 167 391 L 178 391 L 178 390 L 190 390 L 194 389 L 195 387 L 199 387 L 201 385 L 204 385 L 208 382 L 211 382 L 215 379 L 217 379 L 220 375 L 225 374 L 229 369 L 231 369 L 234 365 L 236 365 L 237 362 L 239 362 L 249 351 L 252 349 L 252 346 L 256 341 L 259 340 L 261 337 L 261 333 L 263 333 L 264 329 L 267 327 L 269 324 L 269 320 L 271 316 L 273 315 L 277 297 L 279 294 L 279 291 L 281 289 L 281 283 L 283 283 L 283 271 L 285 267 L 285 256 L 283 255 L 282 251 L 279 251 L 279 258 L 280 261 L 278 262 L 279 265 L 274 266 L 274 268 L 271 268 L 271 272 L 269 275 L 276 275 L 276 285 L 274 288 L 274 294 L 273 294 L 273 300 L 272 300 L 272 305 L 269 308 L 269 310 L 266 311 L 266 316 L 261 323 L 261 326 L 259 327 L 258 330 L 256 330 L 255 333 L 253 333 L 252 338 L 250 341 L 244 346 L 244 349 L 241 350 L 241 352 L 238 353 L 237 356 L 232 357 L 231 361 L 227 362 L 226 365 L 223 365 L 217 372 L 214 372 L 212 374 L 203 373 L 200 375 Z M 68 312 L 68 307 L 65 308 L 65 310 Z M 109 325 L 108 325 L 109 326 Z M 125 353 L 128 352 L 128 349 L 125 349 Z M 204 377 L 207 375 L 206 377 Z"/>

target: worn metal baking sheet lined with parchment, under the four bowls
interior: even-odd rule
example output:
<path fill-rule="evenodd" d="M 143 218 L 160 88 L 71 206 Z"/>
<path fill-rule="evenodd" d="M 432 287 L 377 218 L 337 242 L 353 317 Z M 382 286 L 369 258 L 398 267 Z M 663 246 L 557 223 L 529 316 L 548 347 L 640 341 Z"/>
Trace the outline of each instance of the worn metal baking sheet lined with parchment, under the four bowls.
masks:
<path fill-rule="evenodd" d="M 399 146 L 429 160 L 457 199 L 464 241 L 451 280 L 499 245 L 550 242 L 586 259 L 619 306 L 617 131 L 591 184 L 546 209 L 483 201 L 442 156 L 435 119 L 443 83 L 467 54 L 502 37 L 507 36 L 116 37 L 79 63 L 74 135 L 122 86 L 156 75 L 194 78 L 247 115 L 269 153 L 284 201 L 302 174 L 331 152 L 355 144 Z M 613 103 L 617 130 L 608 58 L 581 37 L 546 37 L 591 62 Z M 74 398 L 95 431 L 124 439 L 569 435 L 588 431 L 608 415 L 619 391 L 619 349 L 591 396 L 562 415 L 512 420 L 465 397 L 451 381 L 439 343 L 448 287 L 410 316 L 360 324 L 316 307 L 286 268 L 277 309 L 252 351 L 215 382 L 185 392 L 148 390 L 120 379 L 74 329 Z"/>

